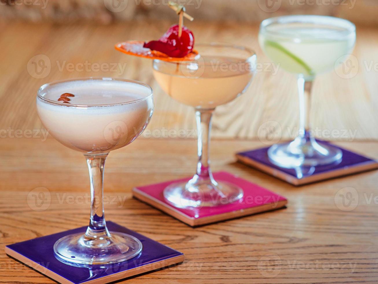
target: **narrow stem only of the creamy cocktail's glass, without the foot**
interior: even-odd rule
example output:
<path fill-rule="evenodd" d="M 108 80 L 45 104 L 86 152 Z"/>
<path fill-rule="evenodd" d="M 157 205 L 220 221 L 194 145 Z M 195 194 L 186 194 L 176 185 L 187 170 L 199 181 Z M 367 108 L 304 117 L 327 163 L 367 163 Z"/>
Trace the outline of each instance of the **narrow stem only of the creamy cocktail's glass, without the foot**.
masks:
<path fill-rule="evenodd" d="M 87 159 L 91 186 L 91 217 L 85 236 L 88 239 L 110 237 L 104 217 L 103 198 L 104 166 L 108 153 L 84 156 Z"/>

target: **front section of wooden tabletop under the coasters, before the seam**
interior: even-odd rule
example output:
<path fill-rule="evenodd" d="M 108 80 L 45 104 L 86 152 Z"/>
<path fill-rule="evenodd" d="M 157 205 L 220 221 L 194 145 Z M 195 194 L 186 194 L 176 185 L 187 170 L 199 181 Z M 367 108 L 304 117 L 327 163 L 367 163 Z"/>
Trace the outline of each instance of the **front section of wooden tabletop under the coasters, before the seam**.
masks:
<path fill-rule="evenodd" d="M 214 171 L 226 170 L 273 190 L 288 198 L 288 207 L 191 228 L 133 199 L 131 190 L 191 175 L 196 164 L 195 144 L 192 139 L 138 138 L 107 159 L 107 220 L 186 254 L 181 265 L 128 279 L 127 283 L 378 281 L 377 171 L 294 187 L 235 163 L 235 151 L 261 147 L 260 142 L 214 139 Z M 378 158 L 375 143 L 339 145 Z M 85 159 L 54 139 L 3 139 L 0 155 L 0 283 L 52 283 L 8 258 L 3 247 L 88 223 Z M 346 208 L 355 207 L 352 211 L 341 210 L 345 208 L 341 207 L 339 190 L 345 187 L 358 193 L 358 202 Z M 42 190 L 45 203 L 36 207 L 31 194 Z"/>

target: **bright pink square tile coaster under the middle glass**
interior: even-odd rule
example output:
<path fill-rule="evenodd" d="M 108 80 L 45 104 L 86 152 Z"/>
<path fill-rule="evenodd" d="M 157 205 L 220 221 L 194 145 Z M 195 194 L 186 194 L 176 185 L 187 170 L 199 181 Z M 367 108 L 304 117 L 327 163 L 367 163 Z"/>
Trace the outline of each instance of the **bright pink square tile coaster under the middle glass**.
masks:
<path fill-rule="evenodd" d="M 191 178 L 166 181 L 164 183 L 151 184 L 149 186 L 135 187 L 133 196 L 157 209 L 171 215 L 174 218 L 188 224 L 199 226 L 260 212 L 282 208 L 287 204 L 287 199 L 271 192 L 257 184 L 231 175 L 227 172 L 213 173 L 217 181 L 228 181 L 240 186 L 244 196 L 235 203 L 216 207 L 201 207 L 193 209 L 176 208 L 164 199 L 163 190 L 171 183 L 189 181 Z"/>

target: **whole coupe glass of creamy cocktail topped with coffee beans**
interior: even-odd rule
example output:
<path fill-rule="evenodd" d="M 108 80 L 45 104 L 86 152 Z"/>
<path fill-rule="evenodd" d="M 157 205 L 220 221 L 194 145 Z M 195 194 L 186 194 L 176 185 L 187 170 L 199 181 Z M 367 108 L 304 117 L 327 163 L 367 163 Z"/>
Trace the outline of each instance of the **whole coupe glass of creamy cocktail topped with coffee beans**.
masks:
<path fill-rule="evenodd" d="M 71 93 L 68 103 L 58 101 Z M 79 103 L 75 103 L 79 102 Z M 91 187 L 91 214 L 85 234 L 57 240 L 56 257 L 67 264 L 104 265 L 138 255 L 141 242 L 109 232 L 104 218 L 103 179 L 108 153 L 131 143 L 153 112 L 152 89 L 143 83 L 112 78 L 83 78 L 45 84 L 37 94 L 37 112 L 46 129 L 63 145 L 84 154 Z"/>

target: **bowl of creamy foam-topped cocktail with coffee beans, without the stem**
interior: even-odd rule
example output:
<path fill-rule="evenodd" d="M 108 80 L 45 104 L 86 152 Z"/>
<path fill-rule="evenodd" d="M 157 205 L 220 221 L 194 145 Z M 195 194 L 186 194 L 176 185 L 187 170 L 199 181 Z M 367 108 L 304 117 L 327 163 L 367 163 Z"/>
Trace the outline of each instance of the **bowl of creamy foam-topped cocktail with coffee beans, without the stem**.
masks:
<path fill-rule="evenodd" d="M 58 101 L 69 93 L 70 101 Z M 76 80 L 52 85 L 37 98 L 45 127 L 74 150 L 98 153 L 121 148 L 146 127 L 153 101 L 146 87 L 124 81 Z M 131 103 L 132 102 L 132 103 Z"/>

